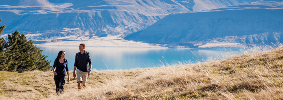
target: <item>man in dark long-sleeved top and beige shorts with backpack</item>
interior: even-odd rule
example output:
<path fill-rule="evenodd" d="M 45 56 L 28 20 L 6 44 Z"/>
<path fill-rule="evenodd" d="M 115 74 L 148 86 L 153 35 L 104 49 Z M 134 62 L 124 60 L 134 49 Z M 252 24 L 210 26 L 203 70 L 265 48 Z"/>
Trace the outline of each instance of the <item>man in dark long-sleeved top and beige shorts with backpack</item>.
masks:
<path fill-rule="evenodd" d="M 80 91 L 81 84 L 83 84 L 83 88 L 85 88 L 87 77 L 91 74 L 91 56 L 89 55 L 89 52 L 85 51 L 85 44 L 81 43 L 79 50 L 80 52 L 76 53 L 75 57 L 73 76 L 76 78 L 75 71 L 77 71 L 78 90 Z"/>

